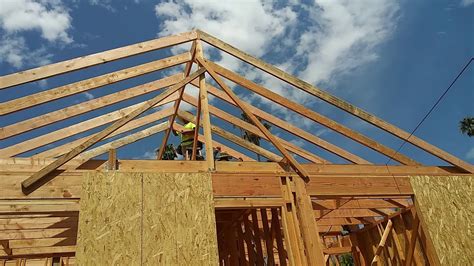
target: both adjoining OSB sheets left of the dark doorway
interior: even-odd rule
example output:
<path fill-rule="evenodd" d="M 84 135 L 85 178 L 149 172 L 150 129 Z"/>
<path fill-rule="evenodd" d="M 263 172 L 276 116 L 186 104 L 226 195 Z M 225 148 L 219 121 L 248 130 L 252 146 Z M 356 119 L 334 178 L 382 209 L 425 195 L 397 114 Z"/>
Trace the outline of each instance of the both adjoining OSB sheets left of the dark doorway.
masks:
<path fill-rule="evenodd" d="M 211 177 L 206 173 L 86 174 L 80 265 L 216 265 Z"/>

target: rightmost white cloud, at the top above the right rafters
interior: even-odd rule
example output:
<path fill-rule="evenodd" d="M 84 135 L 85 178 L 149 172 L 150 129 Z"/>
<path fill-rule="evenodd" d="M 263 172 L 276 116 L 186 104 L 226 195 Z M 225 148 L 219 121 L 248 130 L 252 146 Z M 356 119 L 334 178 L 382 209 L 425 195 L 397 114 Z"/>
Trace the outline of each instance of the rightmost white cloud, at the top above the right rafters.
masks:
<path fill-rule="evenodd" d="M 308 58 L 299 74 L 318 84 L 329 82 L 377 59 L 374 49 L 393 31 L 398 6 L 394 1 L 316 0 L 319 8 L 311 10 L 317 19 L 300 37 L 297 53 Z M 316 22 L 316 21 L 315 21 Z"/>

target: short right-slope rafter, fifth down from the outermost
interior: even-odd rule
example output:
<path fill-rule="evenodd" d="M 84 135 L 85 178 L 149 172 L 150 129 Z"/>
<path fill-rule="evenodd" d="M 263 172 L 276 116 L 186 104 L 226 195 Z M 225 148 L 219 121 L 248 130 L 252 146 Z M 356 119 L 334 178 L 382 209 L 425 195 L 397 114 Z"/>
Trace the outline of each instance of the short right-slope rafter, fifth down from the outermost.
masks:
<path fill-rule="evenodd" d="M 186 112 L 183 112 L 183 111 L 178 111 L 178 116 L 180 117 L 183 117 L 184 119 L 189 119 L 189 121 L 194 121 L 194 116 L 192 114 L 189 114 L 189 113 L 186 113 Z M 202 126 L 202 123 L 201 125 Z M 216 133 L 217 135 L 231 141 L 231 142 L 234 142 L 235 144 L 241 146 L 241 147 L 244 147 L 246 149 L 248 149 L 249 151 L 252 151 L 252 152 L 255 152 L 255 153 L 258 153 L 262 156 L 264 156 L 265 158 L 268 158 L 272 161 L 275 161 L 275 162 L 279 162 L 281 161 L 282 157 L 273 153 L 273 152 L 270 152 L 258 145 L 255 145 L 249 141 L 246 141 L 244 140 L 243 138 L 239 137 L 239 136 L 236 136 L 220 127 L 217 127 L 217 126 L 214 126 L 214 125 L 211 125 L 211 131 Z"/>

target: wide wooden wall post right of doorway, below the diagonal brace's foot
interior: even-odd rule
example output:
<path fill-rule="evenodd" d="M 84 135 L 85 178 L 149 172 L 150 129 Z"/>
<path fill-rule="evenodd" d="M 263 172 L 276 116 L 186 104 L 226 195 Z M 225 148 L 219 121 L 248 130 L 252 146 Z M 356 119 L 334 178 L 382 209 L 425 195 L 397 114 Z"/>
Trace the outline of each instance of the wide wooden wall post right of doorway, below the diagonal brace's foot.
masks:
<path fill-rule="evenodd" d="M 324 265 L 323 249 L 319 240 L 319 232 L 316 225 L 316 218 L 311 204 L 305 183 L 300 178 L 295 178 L 296 207 L 303 232 L 303 242 L 305 244 L 306 255 L 309 265 Z"/>

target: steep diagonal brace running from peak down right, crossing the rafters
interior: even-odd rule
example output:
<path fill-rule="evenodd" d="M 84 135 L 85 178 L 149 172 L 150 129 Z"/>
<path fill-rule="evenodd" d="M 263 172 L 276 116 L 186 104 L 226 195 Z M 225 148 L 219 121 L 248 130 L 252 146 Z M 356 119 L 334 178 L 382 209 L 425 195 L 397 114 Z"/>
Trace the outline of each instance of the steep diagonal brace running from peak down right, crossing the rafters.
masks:
<path fill-rule="evenodd" d="M 268 129 L 262 125 L 260 120 L 247 108 L 247 106 L 235 95 L 235 93 L 230 89 L 223 80 L 214 72 L 214 68 L 209 65 L 203 58 L 197 57 L 196 60 L 207 70 L 207 73 L 216 81 L 217 84 L 232 98 L 232 100 L 237 104 L 237 106 L 242 109 L 242 111 L 247 115 L 247 117 L 252 121 L 254 125 L 262 131 L 262 133 L 270 140 L 270 142 L 277 148 L 283 157 L 286 159 L 287 163 L 295 170 L 295 172 L 305 181 L 309 182 L 309 175 L 308 173 L 301 167 L 300 163 L 298 163 L 295 158 L 291 154 L 289 154 L 285 147 L 268 131 Z"/>

